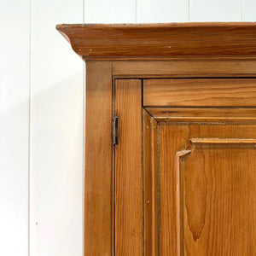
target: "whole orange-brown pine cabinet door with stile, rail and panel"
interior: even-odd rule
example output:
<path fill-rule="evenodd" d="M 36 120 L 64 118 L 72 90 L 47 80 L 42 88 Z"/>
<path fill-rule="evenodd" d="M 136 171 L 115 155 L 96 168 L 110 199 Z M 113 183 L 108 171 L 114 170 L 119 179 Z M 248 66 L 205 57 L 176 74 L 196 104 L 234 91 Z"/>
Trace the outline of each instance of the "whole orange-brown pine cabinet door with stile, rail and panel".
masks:
<path fill-rule="evenodd" d="M 256 79 L 119 79 L 116 255 L 256 255 Z"/>

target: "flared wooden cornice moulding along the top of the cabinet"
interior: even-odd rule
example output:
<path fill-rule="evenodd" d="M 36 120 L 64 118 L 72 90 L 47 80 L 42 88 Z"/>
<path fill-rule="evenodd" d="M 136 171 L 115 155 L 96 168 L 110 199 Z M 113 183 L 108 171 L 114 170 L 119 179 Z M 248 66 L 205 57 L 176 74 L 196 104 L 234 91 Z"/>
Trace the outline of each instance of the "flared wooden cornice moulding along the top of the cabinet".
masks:
<path fill-rule="evenodd" d="M 62 24 L 84 60 L 256 58 L 256 22 Z"/>

